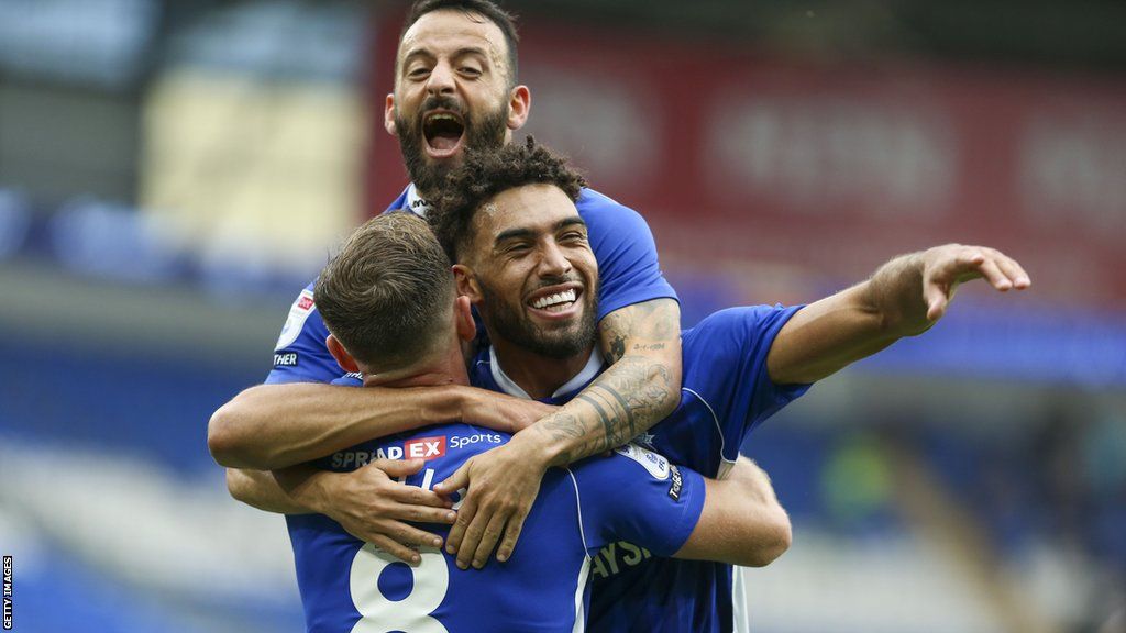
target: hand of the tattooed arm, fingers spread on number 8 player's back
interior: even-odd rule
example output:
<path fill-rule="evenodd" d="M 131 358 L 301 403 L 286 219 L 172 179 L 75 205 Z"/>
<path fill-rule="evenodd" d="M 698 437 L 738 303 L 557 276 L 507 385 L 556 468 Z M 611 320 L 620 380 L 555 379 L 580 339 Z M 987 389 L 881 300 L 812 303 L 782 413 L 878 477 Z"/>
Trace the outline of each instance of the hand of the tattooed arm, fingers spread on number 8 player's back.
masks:
<path fill-rule="evenodd" d="M 519 436 L 517 436 L 519 437 Z M 547 461 L 534 445 L 512 439 L 504 446 L 471 457 L 446 481 L 434 487 L 440 494 L 468 488 L 457 509 L 457 521 L 446 538 L 446 551 L 457 554 L 457 567 L 481 569 L 503 534 L 497 560 L 507 561 L 516 549 L 524 519 L 539 492 Z"/>

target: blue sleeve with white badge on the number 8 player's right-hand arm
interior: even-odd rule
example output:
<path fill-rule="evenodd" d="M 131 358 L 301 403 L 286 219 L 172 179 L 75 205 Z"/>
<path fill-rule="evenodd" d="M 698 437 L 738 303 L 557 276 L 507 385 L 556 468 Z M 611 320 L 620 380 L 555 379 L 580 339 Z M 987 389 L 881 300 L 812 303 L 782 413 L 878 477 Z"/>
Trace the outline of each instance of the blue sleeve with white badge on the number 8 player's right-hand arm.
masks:
<path fill-rule="evenodd" d="M 609 457 L 571 469 L 588 552 L 628 541 L 671 556 L 691 535 L 704 509 L 704 479 L 664 456 L 627 444 Z"/>

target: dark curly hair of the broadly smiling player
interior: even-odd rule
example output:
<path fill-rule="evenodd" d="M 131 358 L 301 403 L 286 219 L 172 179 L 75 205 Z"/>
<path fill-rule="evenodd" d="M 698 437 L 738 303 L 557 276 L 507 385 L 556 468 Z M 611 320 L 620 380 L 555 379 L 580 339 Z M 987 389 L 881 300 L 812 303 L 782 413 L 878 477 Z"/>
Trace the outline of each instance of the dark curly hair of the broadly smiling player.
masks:
<path fill-rule="evenodd" d="M 449 176 L 438 199 L 427 214 L 430 228 L 450 261 L 459 261 L 472 238 L 473 217 L 498 194 L 525 185 L 555 185 L 571 200 L 578 200 L 587 180 L 568 164 L 565 157 L 528 136 L 525 144 L 467 151 L 465 162 Z"/>

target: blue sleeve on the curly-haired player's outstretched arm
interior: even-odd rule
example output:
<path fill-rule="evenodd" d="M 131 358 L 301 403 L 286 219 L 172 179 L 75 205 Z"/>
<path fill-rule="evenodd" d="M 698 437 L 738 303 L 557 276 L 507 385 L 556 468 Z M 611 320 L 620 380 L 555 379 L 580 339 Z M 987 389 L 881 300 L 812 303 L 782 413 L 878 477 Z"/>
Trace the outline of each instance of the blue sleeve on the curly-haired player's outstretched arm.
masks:
<path fill-rule="evenodd" d="M 732 307 L 683 333 L 682 387 L 720 426 L 724 460 L 736 460 L 747 434 L 808 391 L 807 384 L 775 384 L 767 369 L 775 338 L 801 309 Z"/>

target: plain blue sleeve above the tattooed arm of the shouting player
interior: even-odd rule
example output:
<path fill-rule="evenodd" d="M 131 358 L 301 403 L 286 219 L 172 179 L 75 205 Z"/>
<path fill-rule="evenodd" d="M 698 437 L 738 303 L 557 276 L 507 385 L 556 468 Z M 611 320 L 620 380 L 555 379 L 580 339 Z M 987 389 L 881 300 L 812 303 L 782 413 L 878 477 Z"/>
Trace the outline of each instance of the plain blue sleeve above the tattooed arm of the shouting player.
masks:
<path fill-rule="evenodd" d="M 641 214 L 591 189 L 582 190 L 575 206 L 587 223 L 590 248 L 598 260 L 599 320 L 635 303 L 677 300 L 661 273 L 653 233 Z"/>

